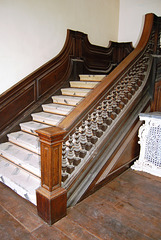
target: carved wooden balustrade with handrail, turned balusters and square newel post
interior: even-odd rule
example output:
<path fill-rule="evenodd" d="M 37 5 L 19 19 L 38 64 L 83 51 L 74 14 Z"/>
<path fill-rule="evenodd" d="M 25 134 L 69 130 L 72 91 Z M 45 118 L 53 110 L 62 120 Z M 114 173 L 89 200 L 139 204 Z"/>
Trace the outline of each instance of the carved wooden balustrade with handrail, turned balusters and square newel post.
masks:
<path fill-rule="evenodd" d="M 63 206 L 63 215 L 66 214 L 66 203 L 62 200 L 61 191 L 58 196 L 57 189 L 63 189 L 63 194 L 67 194 L 67 190 L 70 189 L 75 181 L 74 179 L 80 176 L 85 166 L 92 161 L 93 155 L 97 154 L 95 150 L 97 149 L 96 146 L 99 144 L 99 140 L 101 138 L 104 139 L 105 136 L 109 136 L 114 130 L 114 127 L 119 124 L 121 120 L 124 121 L 124 116 L 129 114 L 131 106 L 139 104 L 139 100 L 137 99 L 141 99 L 142 93 L 145 92 L 147 94 L 148 90 L 144 90 L 148 89 L 149 75 L 152 66 L 151 54 L 156 53 L 158 45 L 160 44 L 160 22 L 160 18 L 154 14 L 147 14 L 142 37 L 136 49 L 88 94 L 59 124 L 59 128 L 52 127 L 45 131 L 37 131 L 41 141 L 41 161 L 46 164 L 46 166 L 53 166 L 52 169 L 48 168 L 48 170 L 44 172 L 44 165 L 42 164 L 42 186 L 40 188 L 41 191 L 37 191 L 38 212 L 43 206 L 41 204 L 42 196 L 45 196 L 45 201 L 49 202 L 49 196 L 56 195 L 56 198 L 59 199 L 59 205 Z M 151 96 L 147 96 L 146 101 L 148 102 L 150 98 Z M 56 142 L 54 142 L 52 134 L 57 135 L 59 141 L 58 138 L 56 138 Z M 46 144 L 49 152 L 51 152 L 53 146 L 55 147 L 57 144 L 61 149 L 63 136 L 63 153 L 56 154 L 54 157 L 50 155 L 48 159 L 45 150 Z M 51 138 L 52 143 L 51 140 L 49 141 Z M 45 139 L 46 144 L 43 143 L 43 139 Z M 49 164 L 48 162 L 51 163 Z M 61 171 L 62 174 L 60 174 Z M 57 177 L 57 181 L 52 181 L 53 175 L 56 174 L 56 176 L 58 176 L 58 172 L 59 177 Z M 47 178 L 46 175 L 48 176 Z M 46 188 L 44 186 L 44 179 L 52 182 L 51 187 L 48 186 Z M 48 194 L 43 194 L 44 189 L 48 191 Z M 50 208 L 51 212 L 53 212 L 57 206 L 55 203 L 51 203 Z M 45 209 L 43 209 L 44 212 L 46 211 Z M 41 213 L 39 214 L 42 216 Z M 50 215 L 50 213 L 45 214 Z M 48 218 L 49 217 L 49 222 L 53 223 L 55 221 L 54 217 L 51 215 L 48 216 Z M 58 218 L 61 217 L 62 211 L 60 211 Z"/>

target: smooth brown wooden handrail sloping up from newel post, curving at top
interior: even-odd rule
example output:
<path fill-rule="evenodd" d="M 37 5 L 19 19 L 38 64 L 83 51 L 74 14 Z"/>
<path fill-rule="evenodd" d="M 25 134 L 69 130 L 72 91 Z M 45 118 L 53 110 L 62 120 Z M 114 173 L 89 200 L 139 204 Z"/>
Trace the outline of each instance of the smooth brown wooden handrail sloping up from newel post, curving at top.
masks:
<path fill-rule="evenodd" d="M 105 92 L 110 89 L 111 85 L 117 80 L 117 78 L 126 72 L 126 69 L 136 59 L 136 57 L 142 52 L 146 46 L 152 26 L 153 26 L 153 14 L 147 14 L 145 16 L 145 24 L 142 33 L 142 37 L 136 47 L 103 81 L 75 108 L 60 124 L 59 127 L 65 129 L 67 132 L 76 125 L 82 119 L 89 109 L 93 108 L 97 104 L 98 100 L 104 96 Z"/>

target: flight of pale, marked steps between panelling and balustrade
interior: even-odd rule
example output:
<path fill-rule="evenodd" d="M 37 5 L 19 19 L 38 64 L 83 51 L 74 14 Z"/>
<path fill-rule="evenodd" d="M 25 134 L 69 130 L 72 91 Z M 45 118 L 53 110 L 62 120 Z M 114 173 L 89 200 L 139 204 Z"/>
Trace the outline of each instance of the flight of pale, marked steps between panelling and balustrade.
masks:
<path fill-rule="evenodd" d="M 21 130 L 8 134 L 0 144 L 0 181 L 36 205 L 36 189 L 41 183 L 40 142 L 36 130 L 57 126 L 66 115 L 105 77 L 80 75 L 52 96 L 53 103 L 43 104 L 42 112 L 33 113 L 32 121 L 20 123 Z"/>

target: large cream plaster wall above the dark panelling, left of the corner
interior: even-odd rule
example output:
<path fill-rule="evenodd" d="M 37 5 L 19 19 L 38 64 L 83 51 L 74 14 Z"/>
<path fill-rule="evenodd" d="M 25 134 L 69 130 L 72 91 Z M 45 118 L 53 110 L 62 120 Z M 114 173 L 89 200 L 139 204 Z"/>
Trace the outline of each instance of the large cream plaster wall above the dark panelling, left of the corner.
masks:
<path fill-rule="evenodd" d="M 0 0 L 0 94 L 56 56 L 67 29 L 118 39 L 119 0 Z"/>

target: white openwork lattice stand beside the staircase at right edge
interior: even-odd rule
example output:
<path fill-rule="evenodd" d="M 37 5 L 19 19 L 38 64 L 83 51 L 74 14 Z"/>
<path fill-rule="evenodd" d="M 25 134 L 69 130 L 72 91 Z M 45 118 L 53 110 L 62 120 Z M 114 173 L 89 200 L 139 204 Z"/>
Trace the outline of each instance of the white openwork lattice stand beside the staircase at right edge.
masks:
<path fill-rule="evenodd" d="M 161 112 L 141 113 L 140 156 L 131 167 L 161 177 Z"/>

